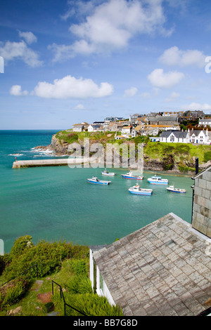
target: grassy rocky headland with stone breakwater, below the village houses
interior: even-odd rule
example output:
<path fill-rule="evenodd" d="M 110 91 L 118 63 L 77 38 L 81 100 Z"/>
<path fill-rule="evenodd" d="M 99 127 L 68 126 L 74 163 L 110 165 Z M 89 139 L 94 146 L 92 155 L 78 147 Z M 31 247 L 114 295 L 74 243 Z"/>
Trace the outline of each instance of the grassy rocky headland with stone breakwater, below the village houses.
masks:
<path fill-rule="evenodd" d="M 88 157 L 87 154 L 84 154 L 84 140 L 86 139 L 89 139 L 90 147 Z M 68 164 L 84 164 L 91 161 L 91 157 L 98 152 L 98 149 L 95 147 L 96 145 L 101 145 L 103 149 L 106 150 L 106 146 L 108 144 L 117 147 L 113 153 L 113 159 L 115 156 L 118 156 L 120 158 L 121 167 L 123 159 L 122 145 L 129 147 L 129 144 L 131 143 L 135 145 L 135 157 L 137 157 L 138 145 L 142 143 L 143 168 L 145 171 L 165 171 L 167 173 L 183 173 L 192 175 L 195 171 L 196 157 L 198 157 L 199 160 L 200 170 L 205 169 L 211 163 L 210 145 L 152 142 L 149 138 L 143 136 L 120 140 L 117 139 L 114 132 L 76 133 L 67 130 L 60 131 L 53 135 L 50 145 L 37 147 L 43 150 L 51 149 L 55 152 L 56 156 L 60 158 L 14 161 L 13 169 L 34 166 L 67 166 Z M 71 159 L 70 157 L 75 154 L 78 148 L 81 149 L 79 159 L 76 159 L 77 157 Z M 61 157 L 63 156 L 70 157 L 62 159 Z"/>

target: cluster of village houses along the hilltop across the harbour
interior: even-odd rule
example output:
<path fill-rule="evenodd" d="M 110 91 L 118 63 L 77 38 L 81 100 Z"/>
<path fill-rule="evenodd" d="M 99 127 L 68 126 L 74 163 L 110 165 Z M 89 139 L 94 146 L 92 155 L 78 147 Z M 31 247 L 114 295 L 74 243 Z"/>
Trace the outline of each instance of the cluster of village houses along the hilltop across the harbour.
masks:
<path fill-rule="evenodd" d="M 181 130 L 180 124 L 187 120 L 198 119 L 202 129 Z M 151 140 L 162 143 L 194 143 L 209 145 L 211 143 L 211 118 L 205 117 L 202 111 L 187 112 L 151 112 L 150 114 L 133 114 L 129 119 L 106 117 L 104 121 L 92 124 L 82 122 L 72 125 L 73 132 L 115 132 L 115 138 L 135 138 L 151 136 Z"/>

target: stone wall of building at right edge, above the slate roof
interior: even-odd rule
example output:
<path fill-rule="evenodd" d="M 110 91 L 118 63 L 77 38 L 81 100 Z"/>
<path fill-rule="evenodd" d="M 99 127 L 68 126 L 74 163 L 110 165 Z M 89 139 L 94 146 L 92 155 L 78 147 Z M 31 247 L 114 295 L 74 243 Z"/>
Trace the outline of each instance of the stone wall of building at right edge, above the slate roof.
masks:
<path fill-rule="evenodd" d="M 192 227 L 211 238 L 211 166 L 195 177 Z"/>

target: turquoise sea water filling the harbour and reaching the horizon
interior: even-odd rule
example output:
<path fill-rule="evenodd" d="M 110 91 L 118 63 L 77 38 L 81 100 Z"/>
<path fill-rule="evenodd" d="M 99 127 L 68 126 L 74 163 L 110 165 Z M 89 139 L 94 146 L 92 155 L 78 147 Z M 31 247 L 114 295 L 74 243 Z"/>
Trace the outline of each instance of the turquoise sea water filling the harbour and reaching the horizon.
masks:
<path fill-rule="evenodd" d="M 9 253 L 15 239 L 30 235 L 32 242 L 72 242 L 93 246 L 111 244 L 135 230 L 173 212 L 191 223 L 193 180 L 190 176 L 159 173 L 169 185 L 186 194 L 168 192 L 165 185 L 151 185 L 154 172 L 143 171 L 141 187 L 153 188 L 151 196 L 130 194 L 136 184 L 116 173 L 110 185 L 92 185 L 87 178 L 101 175 L 101 168 L 49 166 L 12 169 L 17 160 L 58 159 L 49 145 L 58 130 L 0 131 L 0 239 Z M 62 156 L 67 157 L 67 156 Z"/>

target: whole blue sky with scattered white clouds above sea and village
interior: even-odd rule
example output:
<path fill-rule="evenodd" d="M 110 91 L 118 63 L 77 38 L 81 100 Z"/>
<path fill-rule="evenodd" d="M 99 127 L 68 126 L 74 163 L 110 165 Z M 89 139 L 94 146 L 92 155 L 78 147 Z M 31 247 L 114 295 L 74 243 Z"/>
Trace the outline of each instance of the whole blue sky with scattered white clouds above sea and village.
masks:
<path fill-rule="evenodd" d="M 1 0 L 0 129 L 211 114 L 210 0 Z"/>

